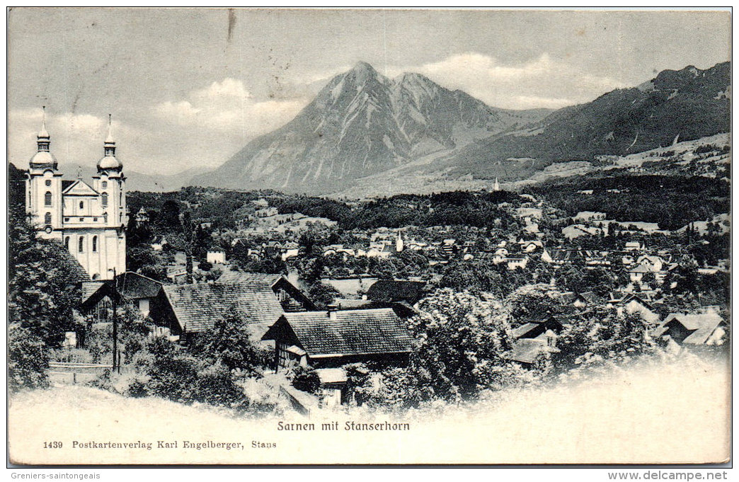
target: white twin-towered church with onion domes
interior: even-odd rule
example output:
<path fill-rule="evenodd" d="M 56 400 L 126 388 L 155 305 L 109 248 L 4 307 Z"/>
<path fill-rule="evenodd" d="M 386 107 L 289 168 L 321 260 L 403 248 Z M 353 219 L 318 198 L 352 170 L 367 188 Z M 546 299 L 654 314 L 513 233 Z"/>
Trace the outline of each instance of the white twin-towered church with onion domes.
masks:
<path fill-rule="evenodd" d="M 26 180 L 26 211 L 39 237 L 64 243 L 91 279 L 113 279 L 126 271 L 126 177 L 115 157 L 111 122 L 92 186 L 81 178 L 63 180 L 46 117 L 36 140 Z"/>

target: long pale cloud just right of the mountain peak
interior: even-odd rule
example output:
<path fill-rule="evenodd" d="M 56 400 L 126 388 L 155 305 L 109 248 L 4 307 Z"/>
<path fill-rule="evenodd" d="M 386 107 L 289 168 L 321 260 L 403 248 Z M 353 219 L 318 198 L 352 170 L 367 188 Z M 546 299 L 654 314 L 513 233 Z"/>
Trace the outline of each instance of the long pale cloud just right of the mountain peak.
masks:
<path fill-rule="evenodd" d="M 612 78 L 582 72 L 570 59 L 544 52 L 520 64 L 505 64 L 478 52 L 451 55 L 437 62 L 389 67 L 388 74 L 418 72 L 451 89 L 461 89 L 491 106 L 506 109 L 559 108 L 592 101 L 621 87 Z"/>

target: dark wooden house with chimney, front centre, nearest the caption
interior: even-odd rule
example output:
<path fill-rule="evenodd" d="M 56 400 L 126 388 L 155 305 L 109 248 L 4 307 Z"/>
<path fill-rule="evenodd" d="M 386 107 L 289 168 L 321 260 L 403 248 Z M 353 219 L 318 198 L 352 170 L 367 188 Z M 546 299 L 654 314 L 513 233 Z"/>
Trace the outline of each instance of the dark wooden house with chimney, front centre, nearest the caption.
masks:
<path fill-rule="evenodd" d="M 406 364 L 412 339 L 390 308 L 284 313 L 262 340 L 275 342 L 275 369 L 290 364 L 316 368 L 378 361 Z"/>

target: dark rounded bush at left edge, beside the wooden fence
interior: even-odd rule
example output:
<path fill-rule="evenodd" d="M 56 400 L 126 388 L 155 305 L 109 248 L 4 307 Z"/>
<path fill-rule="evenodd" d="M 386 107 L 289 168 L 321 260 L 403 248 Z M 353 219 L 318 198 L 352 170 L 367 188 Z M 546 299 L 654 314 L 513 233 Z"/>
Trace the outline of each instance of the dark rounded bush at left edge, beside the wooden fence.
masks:
<path fill-rule="evenodd" d="M 49 386 L 49 354 L 39 336 L 12 323 L 7 331 L 7 352 L 7 384 L 11 392 Z"/>

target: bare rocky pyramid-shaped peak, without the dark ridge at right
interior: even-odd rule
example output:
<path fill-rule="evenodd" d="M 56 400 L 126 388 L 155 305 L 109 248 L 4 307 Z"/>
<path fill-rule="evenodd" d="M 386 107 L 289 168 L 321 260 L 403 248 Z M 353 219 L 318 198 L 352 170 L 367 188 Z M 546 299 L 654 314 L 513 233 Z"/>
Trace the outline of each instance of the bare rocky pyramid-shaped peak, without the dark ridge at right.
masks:
<path fill-rule="evenodd" d="M 360 62 L 333 78 L 293 121 L 256 138 L 193 183 L 322 194 L 520 129 L 549 112 L 495 109 L 423 75 L 390 80 Z"/>

